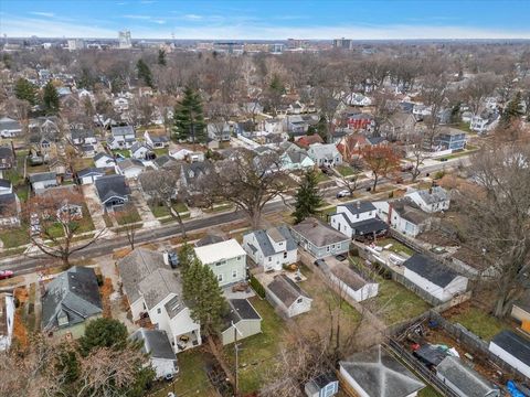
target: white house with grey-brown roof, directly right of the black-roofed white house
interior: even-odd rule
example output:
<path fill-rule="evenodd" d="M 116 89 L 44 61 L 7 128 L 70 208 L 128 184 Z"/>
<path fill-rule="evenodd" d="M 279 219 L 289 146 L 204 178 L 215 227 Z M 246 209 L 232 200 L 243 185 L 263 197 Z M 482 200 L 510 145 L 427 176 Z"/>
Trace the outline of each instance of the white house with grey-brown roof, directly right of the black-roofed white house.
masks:
<path fill-rule="evenodd" d="M 373 205 L 381 219 L 404 235 L 416 237 L 431 227 L 430 214 L 422 211 L 410 197 L 374 202 Z"/>

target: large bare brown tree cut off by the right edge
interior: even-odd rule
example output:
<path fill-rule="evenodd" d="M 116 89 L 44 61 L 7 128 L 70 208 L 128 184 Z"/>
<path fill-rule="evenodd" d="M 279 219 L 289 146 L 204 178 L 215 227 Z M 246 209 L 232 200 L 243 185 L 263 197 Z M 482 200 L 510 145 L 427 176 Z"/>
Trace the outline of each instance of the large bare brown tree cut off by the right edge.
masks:
<path fill-rule="evenodd" d="M 494 314 L 504 316 L 528 288 L 530 270 L 530 146 L 492 147 L 477 153 L 470 172 L 478 185 L 460 190 L 466 240 L 495 270 Z"/>

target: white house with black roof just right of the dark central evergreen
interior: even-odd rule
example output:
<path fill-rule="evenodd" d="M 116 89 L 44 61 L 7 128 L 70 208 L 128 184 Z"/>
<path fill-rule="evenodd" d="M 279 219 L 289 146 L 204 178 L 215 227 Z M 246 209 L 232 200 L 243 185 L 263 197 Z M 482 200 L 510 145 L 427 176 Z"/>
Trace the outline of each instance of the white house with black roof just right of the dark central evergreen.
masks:
<path fill-rule="evenodd" d="M 382 236 L 389 226 L 377 217 L 377 208 L 370 202 L 352 202 L 337 205 L 337 212 L 330 216 L 330 225 L 350 238 Z"/>

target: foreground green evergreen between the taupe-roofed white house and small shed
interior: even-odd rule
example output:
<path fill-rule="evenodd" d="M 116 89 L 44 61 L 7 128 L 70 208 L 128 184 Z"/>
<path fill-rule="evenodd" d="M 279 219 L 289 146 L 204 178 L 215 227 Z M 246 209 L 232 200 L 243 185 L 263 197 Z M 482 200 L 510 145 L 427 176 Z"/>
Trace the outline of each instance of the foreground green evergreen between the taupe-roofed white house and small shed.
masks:
<path fill-rule="evenodd" d="M 182 294 L 190 308 L 191 318 L 201 324 L 204 335 L 219 332 L 227 303 L 219 287 L 218 278 L 210 267 L 204 266 L 191 249 L 183 256 Z M 190 260 L 191 259 L 191 260 Z"/>

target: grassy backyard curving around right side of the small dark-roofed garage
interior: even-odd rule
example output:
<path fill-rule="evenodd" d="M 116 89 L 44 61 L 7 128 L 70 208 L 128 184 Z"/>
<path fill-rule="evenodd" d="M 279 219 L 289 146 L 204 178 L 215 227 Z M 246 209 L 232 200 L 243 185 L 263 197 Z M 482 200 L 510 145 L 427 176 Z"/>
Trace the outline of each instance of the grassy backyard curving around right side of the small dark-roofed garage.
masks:
<path fill-rule="evenodd" d="M 262 316 L 262 333 L 241 341 L 240 344 L 240 391 L 242 395 L 256 391 L 263 385 L 263 375 L 274 364 L 283 336 L 284 321 L 273 307 L 258 297 L 250 299 Z M 229 360 L 235 362 L 234 345 L 224 348 Z"/>

